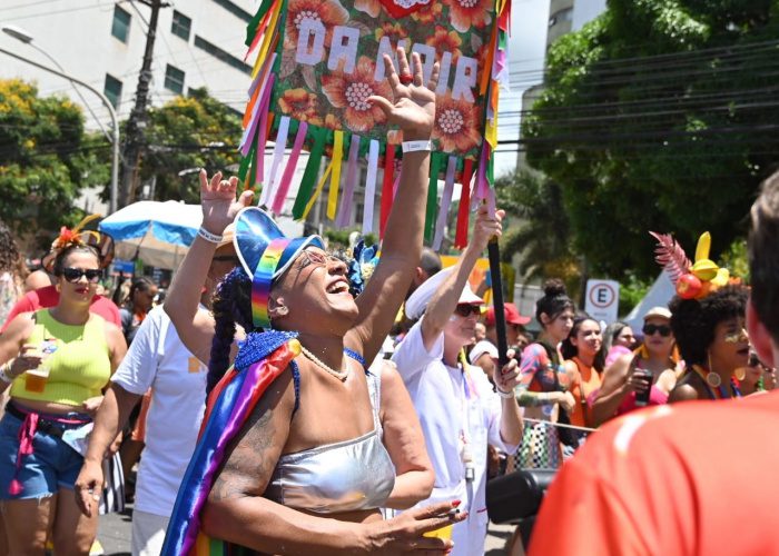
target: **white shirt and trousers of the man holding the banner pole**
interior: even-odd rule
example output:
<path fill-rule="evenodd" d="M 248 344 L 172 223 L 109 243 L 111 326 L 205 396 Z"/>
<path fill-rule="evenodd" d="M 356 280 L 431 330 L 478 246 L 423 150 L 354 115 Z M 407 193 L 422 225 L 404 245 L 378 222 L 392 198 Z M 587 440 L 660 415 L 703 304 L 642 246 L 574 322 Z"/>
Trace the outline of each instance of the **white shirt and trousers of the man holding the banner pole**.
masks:
<path fill-rule="evenodd" d="M 420 416 L 435 470 L 433 494 L 417 506 L 461 499 L 460 507 L 470 514 L 465 522 L 454 526 L 452 554 L 474 556 L 484 553 L 486 536 L 487 444 L 506 453 L 513 453 L 516 446 L 501 438 L 501 398 L 482 369 L 448 367 L 443 356 L 444 335 L 427 351 L 420 320 L 398 344 L 392 360 Z M 463 439 L 470 446 L 475 471 L 470 485 L 461 457 Z"/>

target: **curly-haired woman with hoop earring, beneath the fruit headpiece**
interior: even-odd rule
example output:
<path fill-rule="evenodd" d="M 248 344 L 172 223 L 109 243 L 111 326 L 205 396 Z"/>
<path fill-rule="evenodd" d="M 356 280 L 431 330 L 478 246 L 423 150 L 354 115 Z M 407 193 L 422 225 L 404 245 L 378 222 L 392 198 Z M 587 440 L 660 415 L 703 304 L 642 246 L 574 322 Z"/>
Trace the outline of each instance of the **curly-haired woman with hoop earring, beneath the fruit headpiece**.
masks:
<path fill-rule="evenodd" d="M 671 328 L 687 371 L 669 403 L 740 397 L 734 371 L 749 361 L 745 286 L 719 288 L 701 299 L 674 297 Z"/>

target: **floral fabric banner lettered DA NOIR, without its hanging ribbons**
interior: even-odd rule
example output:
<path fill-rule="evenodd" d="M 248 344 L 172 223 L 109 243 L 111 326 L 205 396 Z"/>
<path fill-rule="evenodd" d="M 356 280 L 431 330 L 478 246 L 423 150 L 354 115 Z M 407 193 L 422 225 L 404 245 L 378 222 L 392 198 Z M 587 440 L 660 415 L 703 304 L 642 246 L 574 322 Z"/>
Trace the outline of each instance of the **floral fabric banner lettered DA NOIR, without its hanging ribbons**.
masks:
<path fill-rule="evenodd" d="M 494 0 L 289 0 L 286 12 L 273 111 L 386 140 L 385 116 L 366 99 L 392 98 L 383 54 L 401 46 L 420 53 L 425 79 L 441 63 L 436 149 L 479 157 Z"/>

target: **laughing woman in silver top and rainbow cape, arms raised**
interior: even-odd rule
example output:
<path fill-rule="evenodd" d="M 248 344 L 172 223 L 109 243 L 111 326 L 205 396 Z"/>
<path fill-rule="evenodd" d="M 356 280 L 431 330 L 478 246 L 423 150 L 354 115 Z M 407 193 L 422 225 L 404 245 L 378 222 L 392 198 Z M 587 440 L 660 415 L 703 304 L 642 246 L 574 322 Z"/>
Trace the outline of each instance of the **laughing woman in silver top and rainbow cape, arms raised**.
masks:
<path fill-rule="evenodd" d="M 371 101 L 406 141 L 428 145 L 437 64 L 424 87 L 418 56 L 413 76 L 402 49 L 397 56 L 402 80 L 385 57 L 394 103 Z M 250 193 L 233 202 L 235 178 L 217 173 L 208 182 L 201 172 L 204 229 L 165 308 L 187 347 L 209 361 L 213 391 L 164 554 L 213 543 L 198 537 L 200 524 L 210 537 L 270 554 L 434 554 L 452 546 L 423 533 L 460 522 L 456 502 L 381 518 L 379 507 L 427 497 L 432 475 L 396 371 L 378 377 L 364 364 L 378 353 L 420 259 L 428 149 L 404 157 L 381 260 L 356 299 L 346 266 L 317 236 L 285 238 L 264 211 L 241 209 Z M 214 241 L 234 218 L 241 265 L 219 286 L 214 319 L 196 311 L 197 298 Z M 236 324 L 246 332 L 239 348 Z"/>

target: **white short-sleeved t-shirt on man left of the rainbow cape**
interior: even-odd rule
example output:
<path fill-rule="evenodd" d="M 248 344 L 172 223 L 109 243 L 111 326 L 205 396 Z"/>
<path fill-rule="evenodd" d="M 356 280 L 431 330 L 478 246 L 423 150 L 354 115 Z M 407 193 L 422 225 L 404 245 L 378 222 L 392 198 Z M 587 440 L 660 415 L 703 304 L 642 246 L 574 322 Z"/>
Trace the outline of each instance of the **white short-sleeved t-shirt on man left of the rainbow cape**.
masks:
<path fill-rule="evenodd" d="M 132 394 L 151 388 L 136 481 L 135 507 L 141 512 L 159 516 L 172 512 L 206 407 L 207 370 L 184 347 L 162 307 L 155 307 L 111 377 Z"/>

